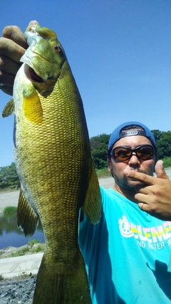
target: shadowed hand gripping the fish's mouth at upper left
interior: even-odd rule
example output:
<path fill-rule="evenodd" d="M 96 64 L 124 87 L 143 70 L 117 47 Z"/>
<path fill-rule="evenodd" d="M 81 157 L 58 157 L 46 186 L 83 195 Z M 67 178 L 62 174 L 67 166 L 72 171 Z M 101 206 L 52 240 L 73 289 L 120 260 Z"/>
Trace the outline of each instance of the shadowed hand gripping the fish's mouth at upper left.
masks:
<path fill-rule="evenodd" d="M 37 23 L 31 21 L 29 24 Z M 28 44 L 18 26 L 6 26 L 0 38 L 0 89 L 13 95 L 14 78 L 21 67 L 20 58 Z"/>

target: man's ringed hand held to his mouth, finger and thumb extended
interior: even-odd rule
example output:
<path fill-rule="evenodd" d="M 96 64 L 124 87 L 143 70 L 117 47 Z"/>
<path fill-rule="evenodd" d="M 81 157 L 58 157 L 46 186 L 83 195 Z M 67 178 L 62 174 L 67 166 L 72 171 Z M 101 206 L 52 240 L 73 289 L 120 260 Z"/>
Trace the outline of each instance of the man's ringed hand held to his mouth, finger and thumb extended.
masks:
<path fill-rule="evenodd" d="M 157 177 L 128 169 L 124 174 L 141 182 L 135 187 L 138 192 L 135 199 L 139 202 L 139 208 L 158 219 L 171 221 L 171 181 L 162 167 L 161 160 L 156 163 L 155 172 Z"/>

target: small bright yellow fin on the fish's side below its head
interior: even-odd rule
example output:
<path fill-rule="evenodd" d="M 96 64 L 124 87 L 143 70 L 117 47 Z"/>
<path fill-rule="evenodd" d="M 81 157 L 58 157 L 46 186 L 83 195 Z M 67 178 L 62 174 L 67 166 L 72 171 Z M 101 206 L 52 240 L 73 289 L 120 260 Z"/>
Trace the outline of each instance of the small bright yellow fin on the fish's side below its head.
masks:
<path fill-rule="evenodd" d="M 26 85 L 23 92 L 24 115 L 28 120 L 41 123 L 43 120 L 43 110 L 38 93 L 32 84 Z"/>

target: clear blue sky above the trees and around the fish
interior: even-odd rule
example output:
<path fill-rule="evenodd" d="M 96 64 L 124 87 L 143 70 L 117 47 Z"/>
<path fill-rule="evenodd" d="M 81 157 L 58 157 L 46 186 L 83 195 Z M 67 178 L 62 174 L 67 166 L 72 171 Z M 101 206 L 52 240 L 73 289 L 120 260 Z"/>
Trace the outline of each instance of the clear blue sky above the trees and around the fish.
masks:
<path fill-rule="evenodd" d="M 56 31 L 76 78 L 89 136 L 138 120 L 171 130 L 170 0 L 6 0 L 0 31 L 28 22 Z M 0 112 L 10 96 L 0 90 Z M 0 118 L 0 167 L 14 162 L 14 115 Z"/>

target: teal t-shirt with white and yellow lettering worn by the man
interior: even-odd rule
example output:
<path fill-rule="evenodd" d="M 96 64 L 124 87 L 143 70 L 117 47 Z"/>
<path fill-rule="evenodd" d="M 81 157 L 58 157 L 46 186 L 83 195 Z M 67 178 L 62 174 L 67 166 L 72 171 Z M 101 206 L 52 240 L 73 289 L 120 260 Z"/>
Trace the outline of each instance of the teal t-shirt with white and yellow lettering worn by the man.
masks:
<path fill-rule="evenodd" d="M 84 216 L 79 231 L 93 304 L 171 303 L 171 222 L 100 190 L 100 223 Z"/>

